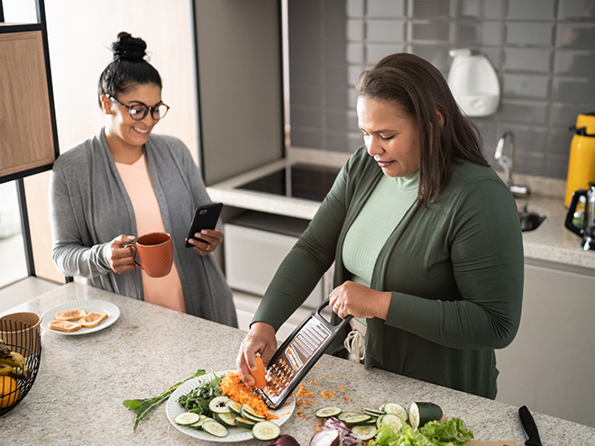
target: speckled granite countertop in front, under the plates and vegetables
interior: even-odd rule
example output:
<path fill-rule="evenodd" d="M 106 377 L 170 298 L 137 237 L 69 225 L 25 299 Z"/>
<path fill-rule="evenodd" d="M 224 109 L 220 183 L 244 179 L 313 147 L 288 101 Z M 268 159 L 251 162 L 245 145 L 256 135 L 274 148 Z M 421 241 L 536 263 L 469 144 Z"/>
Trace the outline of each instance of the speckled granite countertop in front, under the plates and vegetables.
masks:
<path fill-rule="evenodd" d="M 172 426 L 160 405 L 133 433 L 135 415 L 125 399 L 157 396 L 197 369 L 234 369 L 244 332 L 181 314 L 105 290 L 70 283 L 36 297 L 13 311 L 43 314 L 70 301 L 104 300 L 120 309 L 119 319 L 104 330 L 78 336 L 42 332 L 41 367 L 23 401 L 2 417 L 7 444 L 142 444 L 196 445 L 197 441 Z M 319 384 L 315 387 L 314 381 Z M 341 392 L 347 401 L 334 401 L 343 410 L 360 410 L 387 401 L 410 405 L 432 401 L 448 416 L 462 418 L 480 441 L 525 442 L 517 407 L 471 396 L 379 369 L 324 355 L 303 381 L 307 387 Z M 339 394 L 343 396 L 343 394 Z M 281 431 L 307 445 L 315 428 L 314 413 L 321 403 L 292 414 Z M 595 429 L 534 413 L 544 445 L 595 444 Z M 246 446 L 261 441 L 243 441 Z"/>

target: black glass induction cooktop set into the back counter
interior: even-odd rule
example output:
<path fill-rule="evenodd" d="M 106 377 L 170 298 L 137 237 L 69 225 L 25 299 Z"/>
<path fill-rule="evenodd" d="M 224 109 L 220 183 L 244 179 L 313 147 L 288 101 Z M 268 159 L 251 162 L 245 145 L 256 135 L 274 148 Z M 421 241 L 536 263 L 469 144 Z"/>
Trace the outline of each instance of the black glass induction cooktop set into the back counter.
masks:
<path fill-rule="evenodd" d="M 339 170 L 313 164 L 292 164 L 236 188 L 322 202 Z"/>

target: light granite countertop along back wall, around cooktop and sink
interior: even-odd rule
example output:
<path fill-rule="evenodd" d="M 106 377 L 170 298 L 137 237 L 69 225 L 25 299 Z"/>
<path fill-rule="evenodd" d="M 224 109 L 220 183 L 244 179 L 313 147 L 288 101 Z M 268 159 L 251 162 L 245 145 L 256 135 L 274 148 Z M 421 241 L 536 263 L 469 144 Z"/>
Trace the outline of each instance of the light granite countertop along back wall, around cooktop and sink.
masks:
<path fill-rule="evenodd" d="M 261 168 L 207 187 L 207 191 L 212 200 L 220 201 L 224 205 L 310 220 L 316 214 L 320 203 L 241 190 L 235 187 L 264 177 L 291 163 L 341 167 L 348 156 L 345 153 L 322 150 L 293 149 L 288 151 L 288 157 L 285 159 L 279 159 Z M 532 191 L 527 198 L 517 199 L 519 207 L 527 204 L 529 211 L 543 213 L 547 216 L 544 223 L 536 230 L 523 232 L 525 257 L 561 263 L 570 267 L 594 269 L 593 274 L 595 274 L 595 250 L 582 250 L 581 238 L 564 227 L 566 218 L 565 181 L 517 175 L 515 182 L 529 186 Z"/>

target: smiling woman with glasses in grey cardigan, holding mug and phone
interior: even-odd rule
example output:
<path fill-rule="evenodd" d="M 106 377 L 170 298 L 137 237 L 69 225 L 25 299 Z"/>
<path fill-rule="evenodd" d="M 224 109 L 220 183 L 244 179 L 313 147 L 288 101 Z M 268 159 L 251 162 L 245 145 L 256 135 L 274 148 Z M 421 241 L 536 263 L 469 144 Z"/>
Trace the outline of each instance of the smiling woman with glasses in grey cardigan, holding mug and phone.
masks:
<path fill-rule="evenodd" d="M 98 84 L 105 126 L 52 169 L 54 263 L 90 285 L 237 326 L 231 290 L 210 255 L 221 244 L 221 222 L 185 247 L 197 207 L 211 200 L 184 143 L 152 133 L 169 106 L 146 44 L 120 32 L 112 50 Z M 174 263 L 163 278 L 136 268 L 135 251 L 124 247 L 149 232 L 172 237 Z"/>

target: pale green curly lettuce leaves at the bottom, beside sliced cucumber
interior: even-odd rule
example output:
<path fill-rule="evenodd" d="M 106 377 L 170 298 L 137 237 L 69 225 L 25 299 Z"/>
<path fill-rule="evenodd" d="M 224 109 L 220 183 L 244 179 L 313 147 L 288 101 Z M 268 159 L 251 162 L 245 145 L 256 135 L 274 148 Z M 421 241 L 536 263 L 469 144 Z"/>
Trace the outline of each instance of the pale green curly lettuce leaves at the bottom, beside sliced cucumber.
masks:
<path fill-rule="evenodd" d="M 473 432 L 462 427 L 459 418 L 448 418 L 444 423 L 432 421 L 414 430 L 405 424 L 398 432 L 383 426 L 369 446 L 464 446 L 473 438 Z"/>

